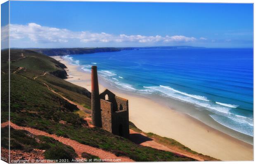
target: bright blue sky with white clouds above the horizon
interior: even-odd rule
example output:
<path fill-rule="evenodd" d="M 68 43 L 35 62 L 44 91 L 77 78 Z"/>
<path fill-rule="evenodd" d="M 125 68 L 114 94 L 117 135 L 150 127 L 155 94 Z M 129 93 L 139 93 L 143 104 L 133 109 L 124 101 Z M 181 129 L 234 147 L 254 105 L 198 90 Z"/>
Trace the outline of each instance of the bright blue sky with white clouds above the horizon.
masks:
<path fill-rule="evenodd" d="M 183 45 L 253 47 L 253 4 L 10 2 L 11 47 Z"/>

